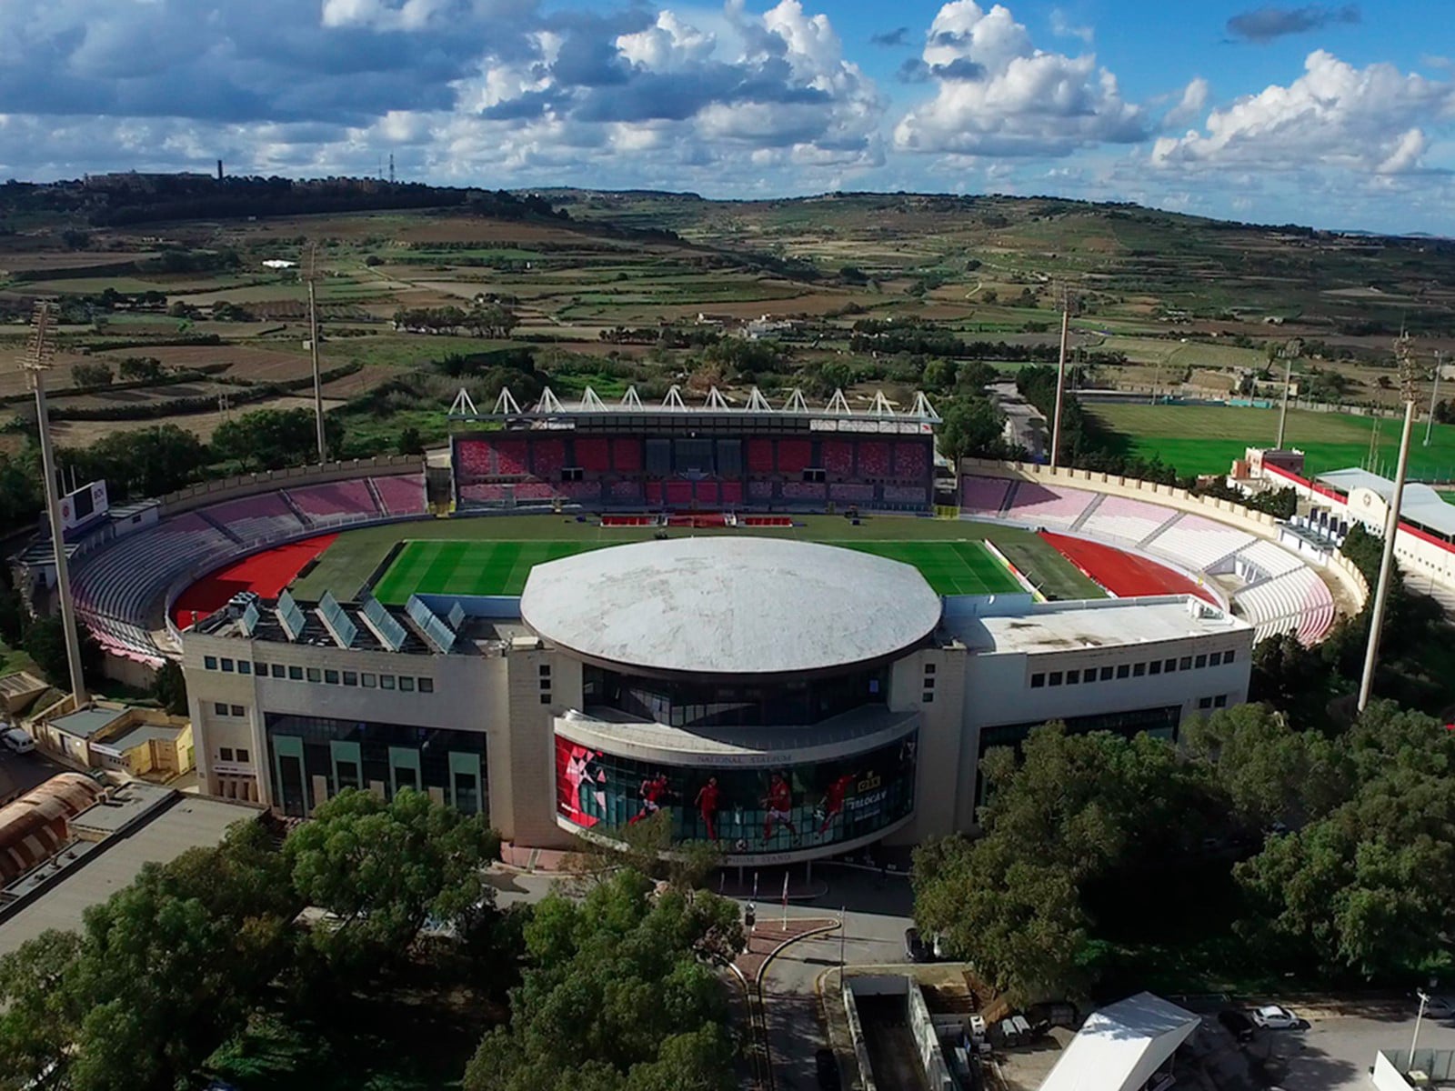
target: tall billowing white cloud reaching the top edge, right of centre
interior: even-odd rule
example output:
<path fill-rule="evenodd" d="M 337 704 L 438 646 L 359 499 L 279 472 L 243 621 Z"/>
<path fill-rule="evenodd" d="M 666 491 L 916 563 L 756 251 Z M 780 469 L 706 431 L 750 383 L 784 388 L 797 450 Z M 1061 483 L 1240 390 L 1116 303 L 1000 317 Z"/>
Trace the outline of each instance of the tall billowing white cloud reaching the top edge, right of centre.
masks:
<path fill-rule="evenodd" d="M 1122 99 L 1096 57 L 1037 49 L 1010 10 L 973 0 L 940 9 L 922 52 L 938 84 L 895 128 L 908 151 L 1065 156 L 1147 137 L 1145 112 Z"/>

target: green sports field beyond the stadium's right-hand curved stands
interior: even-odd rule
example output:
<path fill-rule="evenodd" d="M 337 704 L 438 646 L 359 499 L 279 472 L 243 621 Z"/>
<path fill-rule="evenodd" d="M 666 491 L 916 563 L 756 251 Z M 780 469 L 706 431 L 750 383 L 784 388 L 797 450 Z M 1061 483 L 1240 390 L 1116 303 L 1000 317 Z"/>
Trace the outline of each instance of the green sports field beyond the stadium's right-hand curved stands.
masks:
<path fill-rule="evenodd" d="M 1181 474 L 1228 473 L 1244 448 L 1272 447 L 1277 438 L 1277 409 L 1231 406 L 1104 404 L 1087 409 L 1125 439 L 1126 454 L 1161 458 Z M 1378 425 L 1375 465 L 1388 477 L 1400 454 L 1400 420 L 1346 413 L 1291 409 L 1286 447 L 1308 455 L 1311 474 L 1365 465 Z M 1455 425 L 1436 425 L 1424 447 L 1424 423 L 1417 422 L 1410 444 L 1410 474 L 1416 480 L 1455 480 Z"/>

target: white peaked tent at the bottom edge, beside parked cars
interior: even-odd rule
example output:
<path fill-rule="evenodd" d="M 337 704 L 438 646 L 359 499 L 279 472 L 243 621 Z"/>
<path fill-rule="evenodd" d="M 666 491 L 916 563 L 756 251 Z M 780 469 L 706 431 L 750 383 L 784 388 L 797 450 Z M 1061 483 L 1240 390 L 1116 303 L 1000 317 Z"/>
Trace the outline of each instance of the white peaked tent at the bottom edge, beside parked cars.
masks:
<path fill-rule="evenodd" d="M 1040 1091 L 1138 1091 L 1196 1026 L 1161 996 L 1128 996 L 1091 1014 Z"/>

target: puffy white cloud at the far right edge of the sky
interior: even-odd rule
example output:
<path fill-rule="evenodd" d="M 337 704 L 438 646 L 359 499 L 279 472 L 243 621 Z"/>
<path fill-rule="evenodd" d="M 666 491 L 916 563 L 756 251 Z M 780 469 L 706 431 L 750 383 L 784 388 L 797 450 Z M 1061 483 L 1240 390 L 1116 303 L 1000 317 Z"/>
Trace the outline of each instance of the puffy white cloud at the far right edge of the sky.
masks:
<path fill-rule="evenodd" d="M 1417 170 L 1427 148 L 1422 129 L 1455 118 L 1455 83 L 1401 73 L 1392 64 L 1356 68 L 1317 49 L 1304 74 L 1208 115 L 1203 132 L 1163 137 L 1160 167 L 1213 166 L 1273 170 L 1311 164 L 1360 173 Z"/>

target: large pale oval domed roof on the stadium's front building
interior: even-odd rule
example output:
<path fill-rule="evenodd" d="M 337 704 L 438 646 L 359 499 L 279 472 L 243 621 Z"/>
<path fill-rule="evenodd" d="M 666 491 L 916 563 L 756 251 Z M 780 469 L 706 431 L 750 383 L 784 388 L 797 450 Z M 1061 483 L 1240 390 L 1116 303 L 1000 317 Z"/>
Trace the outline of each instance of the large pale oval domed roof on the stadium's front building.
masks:
<path fill-rule="evenodd" d="M 537 634 L 646 671 L 789 674 L 882 659 L 940 621 L 920 572 L 781 538 L 643 541 L 537 564 L 521 594 Z"/>

